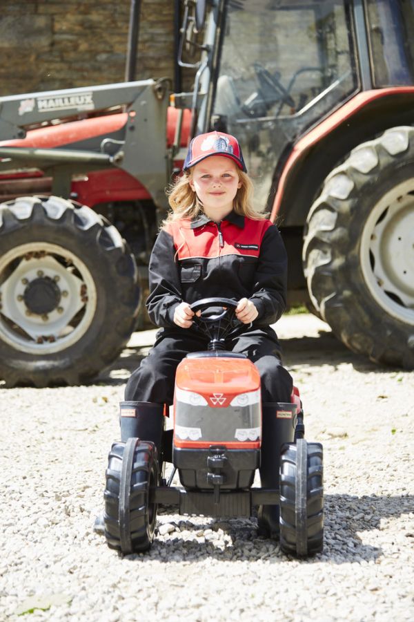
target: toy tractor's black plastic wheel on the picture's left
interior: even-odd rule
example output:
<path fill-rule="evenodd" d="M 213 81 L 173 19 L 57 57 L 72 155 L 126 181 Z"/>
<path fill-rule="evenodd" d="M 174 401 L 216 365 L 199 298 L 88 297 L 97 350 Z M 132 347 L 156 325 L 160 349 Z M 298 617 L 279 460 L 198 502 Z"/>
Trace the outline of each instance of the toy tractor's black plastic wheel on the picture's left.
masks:
<path fill-rule="evenodd" d="M 154 538 L 157 505 L 150 489 L 157 486 L 157 450 L 151 442 L 129 438 L 112 445 L 106 470 L 105 538 L 124 555 L 148 551 Z"/>

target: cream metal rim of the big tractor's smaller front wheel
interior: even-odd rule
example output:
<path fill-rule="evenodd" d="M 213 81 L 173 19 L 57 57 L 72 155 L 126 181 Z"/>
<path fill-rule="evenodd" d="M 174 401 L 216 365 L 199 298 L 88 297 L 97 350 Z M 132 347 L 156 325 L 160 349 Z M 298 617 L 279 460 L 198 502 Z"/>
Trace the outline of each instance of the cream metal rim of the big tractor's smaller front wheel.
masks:
<path fill-rule="evenodd" d="M 81 339 L 95 315 L 97 290 L 86 265 L 49 243 L 23 244 L 0 258 L 0 339 L 46 355 Z"/>

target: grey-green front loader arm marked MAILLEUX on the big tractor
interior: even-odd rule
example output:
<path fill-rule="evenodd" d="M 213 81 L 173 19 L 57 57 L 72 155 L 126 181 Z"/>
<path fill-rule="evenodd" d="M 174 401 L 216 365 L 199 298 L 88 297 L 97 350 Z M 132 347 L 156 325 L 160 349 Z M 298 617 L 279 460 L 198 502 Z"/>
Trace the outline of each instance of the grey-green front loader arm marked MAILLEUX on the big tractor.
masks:
<path fill-rule="evenodd" d="M 70 144 L 53 149 L 24 144 L 26 131 L 45 122 L 76 120 L 94 111 L 107 115 L 121 106 L 127 113 L 121 140 L 108 144 L 103 134 L 99 151 L 81 149 L 76 140 L 76 149 Z M 0 97 L 0 140 L 7 140 L 0 144 L 0 170 L 22 166 L 47 170 L 54 178 L 52 192 L 69 196 L 73 174 L 115 166 L 137 178 L 155 205 L 164 210 L 164 188 L 171 170 L 166 148 L 167 106 L 166 82 L 154 80 Z M 53 126 L 48 131 L 52 132 Z"/>

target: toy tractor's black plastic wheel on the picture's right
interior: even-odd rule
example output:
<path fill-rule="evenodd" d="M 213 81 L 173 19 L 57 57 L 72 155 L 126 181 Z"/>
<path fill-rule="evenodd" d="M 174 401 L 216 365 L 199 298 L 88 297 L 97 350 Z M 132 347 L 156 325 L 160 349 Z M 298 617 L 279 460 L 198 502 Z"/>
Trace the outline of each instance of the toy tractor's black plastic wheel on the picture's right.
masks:
<path fill-rule="evenodd" d="M 306 557 L 324 545 L 322 445 L 298 439 L 282 446 L 280 464 L 280 547 Z"/>

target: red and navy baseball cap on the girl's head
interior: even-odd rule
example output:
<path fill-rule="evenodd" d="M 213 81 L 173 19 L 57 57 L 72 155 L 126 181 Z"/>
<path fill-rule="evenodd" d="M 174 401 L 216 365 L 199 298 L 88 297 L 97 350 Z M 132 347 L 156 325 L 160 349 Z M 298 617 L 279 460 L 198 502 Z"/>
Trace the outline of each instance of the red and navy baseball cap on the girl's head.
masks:
<path fill-rule="evenodd" d="M 190 147 L 188 147 L 183 167 L 184 171 L 194 167 L 195 164 L 210 156 L 230 158 L 237 164 L 239 169 L 247 173 L 239 141 L 231 134 L 224 134 L 223 132 L 208 132 L 193 138 L 190 142 Z"/>

